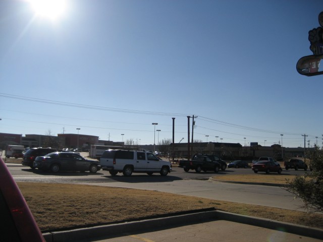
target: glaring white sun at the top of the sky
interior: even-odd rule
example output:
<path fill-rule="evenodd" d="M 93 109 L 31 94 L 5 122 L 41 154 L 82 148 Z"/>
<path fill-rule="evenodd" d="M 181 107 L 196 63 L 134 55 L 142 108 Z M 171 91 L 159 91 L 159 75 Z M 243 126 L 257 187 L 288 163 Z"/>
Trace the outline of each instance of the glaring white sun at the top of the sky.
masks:
<path fill-rule="evenodd" d="M 39 16 L 57 19 L 66 10 L 66 0 L 29 0 L 33 10 Z"/>

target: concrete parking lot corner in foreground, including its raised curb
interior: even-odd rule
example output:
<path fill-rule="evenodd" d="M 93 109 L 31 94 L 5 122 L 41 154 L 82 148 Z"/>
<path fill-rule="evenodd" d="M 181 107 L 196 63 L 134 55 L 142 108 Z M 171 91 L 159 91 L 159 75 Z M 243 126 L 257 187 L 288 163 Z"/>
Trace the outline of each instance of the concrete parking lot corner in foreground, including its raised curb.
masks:
<path fill-rule="evenodd" d="M 46 233 L 55 241 L 321 241 L 322 229 L 274 220 L 205 211 L 86 229 Z"/>

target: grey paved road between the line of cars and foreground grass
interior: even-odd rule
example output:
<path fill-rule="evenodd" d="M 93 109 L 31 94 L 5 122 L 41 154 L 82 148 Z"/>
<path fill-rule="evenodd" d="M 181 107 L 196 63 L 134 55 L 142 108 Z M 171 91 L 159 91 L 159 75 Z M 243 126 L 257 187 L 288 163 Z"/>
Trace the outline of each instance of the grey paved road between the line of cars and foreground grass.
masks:
<path fill-rule="evenodd" d="M 209 198 L 222 201 L 262 205 L 299 210 L 302 202 L 294 200 L 290 193 L 280 187 L 229 184 L 210 181 L 214 173 L 184 172 L 175 167 L 168 176 L 136 173 L 131 177 L 111 176 L 106 171 L 90 172 L 41 172 L 20 164 L 7 164 L 16 181 L 39 181 L 47 183 L 75 183 L 168 192 L 180 195 Z M 242 169 L 245 170 L 245 169 Z M 182 176 L 182 177 L 181 177 Z"/>

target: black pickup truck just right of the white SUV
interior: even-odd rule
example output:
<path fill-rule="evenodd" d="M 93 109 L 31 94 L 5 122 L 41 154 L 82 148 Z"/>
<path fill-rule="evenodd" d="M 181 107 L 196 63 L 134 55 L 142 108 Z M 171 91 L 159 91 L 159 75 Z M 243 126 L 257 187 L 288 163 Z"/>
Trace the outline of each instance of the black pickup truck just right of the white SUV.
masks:
<path fill-rule="evenodd" d="M 179 166 L 183 167 L 186 172 L 189 170 L 195 170 L 196 172 L 212 170 L 214 172 L 219 172 L 220 163 L 212 161 L 207 156 L 195 156 L 193 160 L 180 160 Z"/>

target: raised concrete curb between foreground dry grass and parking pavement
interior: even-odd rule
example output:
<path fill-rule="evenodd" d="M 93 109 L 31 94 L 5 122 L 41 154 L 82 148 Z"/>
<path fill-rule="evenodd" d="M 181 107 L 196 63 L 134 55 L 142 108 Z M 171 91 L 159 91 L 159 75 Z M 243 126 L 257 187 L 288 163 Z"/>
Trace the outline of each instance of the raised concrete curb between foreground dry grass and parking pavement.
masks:
<path fill-rule="evenodd" d="M 80 228 L 68 231 L 44 233 L 47 242 L 65 242 L 78 239 L 95 238 L 117 235 L 140 230 L 160 230 L 166 227 L 179 227 L 187 224 L 196 224 L 210 220 L 227 220 L 253 226 L 298 234 L 302 236 L 322 239 L 323 229 L 307 227 L 277 220 L 262 219 L 246 215 L 239 215 L 219 210 L 190 213 L 172 217 L 146 219 L 141 221 L 125 222 L 119 224 L 101 225 L 90 228 Z"/>

